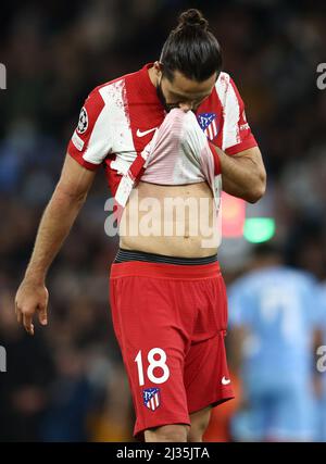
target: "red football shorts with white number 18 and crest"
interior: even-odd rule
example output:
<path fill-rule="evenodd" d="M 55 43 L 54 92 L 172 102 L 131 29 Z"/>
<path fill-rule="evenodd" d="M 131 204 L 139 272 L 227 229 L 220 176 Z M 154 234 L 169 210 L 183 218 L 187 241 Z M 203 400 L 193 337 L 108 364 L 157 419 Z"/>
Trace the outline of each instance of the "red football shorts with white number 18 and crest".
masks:
<path fill-rule="evenodd" d="M 134 435 L 234 398 L 224 337 L 227 301 L 218 263 L 130 261 L 110 276 L 112 319 L 128 374 Z"/>

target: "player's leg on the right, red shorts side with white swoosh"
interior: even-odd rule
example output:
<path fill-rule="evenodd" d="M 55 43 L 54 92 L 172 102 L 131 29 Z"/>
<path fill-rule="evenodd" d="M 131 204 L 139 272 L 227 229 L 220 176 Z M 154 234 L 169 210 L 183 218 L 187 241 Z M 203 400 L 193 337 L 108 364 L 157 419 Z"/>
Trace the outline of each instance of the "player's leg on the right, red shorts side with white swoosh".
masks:
<path fill-rule="evenodd" d="M 191 346 L 185 362 L 185 387 L 191 418 L 189 441 L 202 441 L 211 407 L 234 398 L 224 346 L 226 290 L 218 267 L 212 278 L 193 283 L 198 308 Z"/>

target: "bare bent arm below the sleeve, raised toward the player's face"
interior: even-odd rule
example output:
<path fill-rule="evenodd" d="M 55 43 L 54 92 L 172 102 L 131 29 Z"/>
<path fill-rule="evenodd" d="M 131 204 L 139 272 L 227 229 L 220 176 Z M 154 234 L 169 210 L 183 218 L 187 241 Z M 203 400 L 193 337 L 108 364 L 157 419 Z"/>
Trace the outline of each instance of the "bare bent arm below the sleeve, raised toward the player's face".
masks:
<path fill-rule="evenodd" d="M 258 147 L 231 156 L 215 147 L 220 158 L 223 190 L 255 203 L 266 189 L 266 171 Z"/>

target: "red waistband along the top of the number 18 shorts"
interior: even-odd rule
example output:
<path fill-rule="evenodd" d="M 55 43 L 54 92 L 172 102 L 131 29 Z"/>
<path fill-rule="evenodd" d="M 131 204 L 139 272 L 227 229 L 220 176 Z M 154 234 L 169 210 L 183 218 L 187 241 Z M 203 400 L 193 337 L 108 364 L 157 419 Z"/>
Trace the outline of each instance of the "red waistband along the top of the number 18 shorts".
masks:
<path fill-rule="evenodd" d="M 143 276 L 152 278 L 170 278 L 179 280 L 197 280 L 217 277 L 221 274 L 217 261 L 210 264 L 167 264 L 149 263 L 141 261 L 127 261 L 113 263 L 110 278 L 115 279 L 126 276 Z"/>

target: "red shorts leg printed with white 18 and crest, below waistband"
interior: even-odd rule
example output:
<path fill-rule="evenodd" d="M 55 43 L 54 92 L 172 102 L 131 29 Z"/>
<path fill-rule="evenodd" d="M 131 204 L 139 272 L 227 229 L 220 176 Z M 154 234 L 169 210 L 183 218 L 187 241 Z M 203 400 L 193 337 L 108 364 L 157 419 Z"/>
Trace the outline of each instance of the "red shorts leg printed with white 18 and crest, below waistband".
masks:
<path fill-rule="evenodd" d="M 112 316 L 136 410 L 135 435 L 168 424 L 190 425 L 184 385 L 187 340 L 174 321 L 170 284 L 116 280 Z"/>

